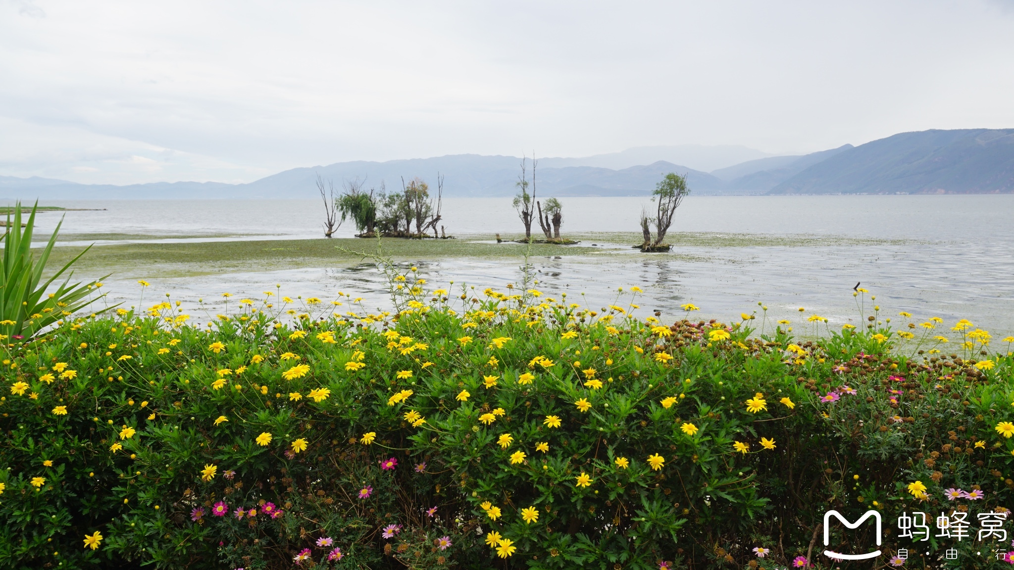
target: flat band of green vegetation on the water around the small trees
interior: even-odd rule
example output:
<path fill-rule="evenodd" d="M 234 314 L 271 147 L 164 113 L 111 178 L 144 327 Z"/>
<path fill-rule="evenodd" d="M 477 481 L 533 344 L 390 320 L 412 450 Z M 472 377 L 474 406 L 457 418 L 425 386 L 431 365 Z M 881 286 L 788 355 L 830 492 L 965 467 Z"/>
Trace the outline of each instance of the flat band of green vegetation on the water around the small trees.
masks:
<path fill-rule="evenodd" d="M 251 266 L 260 271 L 278 271 L 310 267 L 354 267 L 362 257 L 340 248 L 375 254 L 373 239 L 236 239 L 225 241 L 153 242 L 139 239 L 193 238 L 195 236 L 143 236 L 137 234 L 66 234 L 63 240 L 131 240 L 124 243 L 97 244 L 77 264 L 77 271 L 103 273 L 124 272 L 139 267 L 146 268 L 149 276 L 188 276 L 248 271 Z M 207 237 L 217 237 L 210 235 Z M 501 234 L 505 240 L 523 237 L 520 234 Z M 580 240 L 575 245 L 535 243 L 531 245 L 534 257 L 590 257 L 595 262 L 603 258 L 620 260 L 658 259 L 658 254 L 641 254 L 629 245 L 638 243 L 640 234 L 633 232 L 578 233 L 568 237 Z M 517 259 L 524 256 L 528 246 L 523 243 L 496 243 L 494 235 L 465 235 L 457 239 L 383 239 L 385 256 L 400 262 L 419 262 L 433 259 L 472 258 L 479 260 Z M 908 243 L 904 240 L 864 239 L 842 236 L 773 235 L 721 232 L 673 232 L 667 241 L 673 252 L 663 256 L 687 261 L 701 261 L 702 252 L 683 253 L 690 248 L 732 247 L 821 247 L 864 246 Z M 64 263 L 84 246 L 66 245 L 54 248 L 55 264 Z"/>

